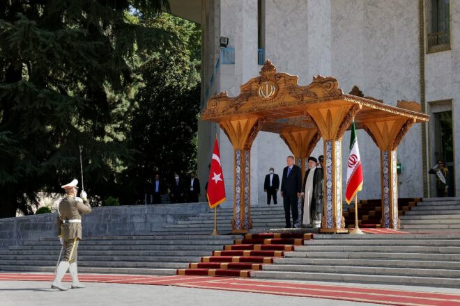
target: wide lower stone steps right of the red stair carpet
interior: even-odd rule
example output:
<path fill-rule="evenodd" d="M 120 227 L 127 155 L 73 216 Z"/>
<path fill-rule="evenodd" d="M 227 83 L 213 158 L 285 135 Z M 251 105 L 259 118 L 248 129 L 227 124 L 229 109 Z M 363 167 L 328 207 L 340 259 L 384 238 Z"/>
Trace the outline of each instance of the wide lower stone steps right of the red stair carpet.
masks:
<path fill-rule="evenodd" d="M 315 235 L 253 278 L 460 287 L 460 234 Z"/>

